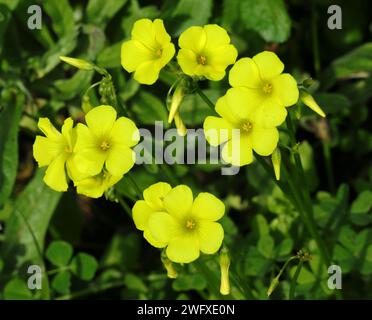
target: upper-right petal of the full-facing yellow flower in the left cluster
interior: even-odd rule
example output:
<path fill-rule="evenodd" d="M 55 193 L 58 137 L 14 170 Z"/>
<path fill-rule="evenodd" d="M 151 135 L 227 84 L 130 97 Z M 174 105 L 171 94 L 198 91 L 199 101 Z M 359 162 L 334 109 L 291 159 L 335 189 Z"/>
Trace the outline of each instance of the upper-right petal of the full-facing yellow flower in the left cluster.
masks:
<path fill-rule="evenodd" d="M 110 141 L 114 145 L 125 145 L 128 147 L 135 146 L 140 140 L 140 134 L 135 123 L 126 118 L 120 117 L 117 119 L 111 129 Z"/>

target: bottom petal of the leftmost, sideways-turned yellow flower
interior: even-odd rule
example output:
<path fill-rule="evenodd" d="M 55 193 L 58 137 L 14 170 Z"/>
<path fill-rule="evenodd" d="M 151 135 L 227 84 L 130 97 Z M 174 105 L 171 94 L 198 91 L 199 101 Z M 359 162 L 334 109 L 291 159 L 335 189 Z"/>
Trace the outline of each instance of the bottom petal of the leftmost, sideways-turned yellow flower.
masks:
<path fill-rule="evenodd" d="M 65 163 L 66 156 L 58 156 L 50 163 L 44 176 L 46 185 L 59 192 L 67 191 L 68 188 Z"/>

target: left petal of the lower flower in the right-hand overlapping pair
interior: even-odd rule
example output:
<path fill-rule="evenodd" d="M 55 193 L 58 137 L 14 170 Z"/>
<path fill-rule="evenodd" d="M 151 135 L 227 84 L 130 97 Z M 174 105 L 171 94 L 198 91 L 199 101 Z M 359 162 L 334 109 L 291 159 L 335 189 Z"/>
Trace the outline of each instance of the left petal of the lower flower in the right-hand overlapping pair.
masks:
<path fill-rule="evenodd" d="M 203 127 L 205 137 L 212 146 L 218 146 L 231 138 L 233 126 L 224 118 L 207 117 Z"/>

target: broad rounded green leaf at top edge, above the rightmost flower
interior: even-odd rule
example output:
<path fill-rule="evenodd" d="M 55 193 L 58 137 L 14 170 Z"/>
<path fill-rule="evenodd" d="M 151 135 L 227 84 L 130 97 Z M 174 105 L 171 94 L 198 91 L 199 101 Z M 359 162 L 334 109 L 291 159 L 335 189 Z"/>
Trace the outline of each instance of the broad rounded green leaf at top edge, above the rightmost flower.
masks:
<path fill-rule="evenodd" d="M 241 21 L 266 42 L 284 42 L 290 36 L 291 19 L 283 0 L 245 0 L 241 2 Z"/>

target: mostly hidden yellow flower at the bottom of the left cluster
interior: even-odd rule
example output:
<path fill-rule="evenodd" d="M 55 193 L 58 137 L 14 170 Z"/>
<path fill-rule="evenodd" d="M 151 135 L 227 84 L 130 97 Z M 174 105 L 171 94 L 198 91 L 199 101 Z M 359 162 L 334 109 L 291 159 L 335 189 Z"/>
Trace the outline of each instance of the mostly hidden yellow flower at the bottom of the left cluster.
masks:
<path fill-rule="evenodd" d="M 91 198 L 102 197 L 104 192 L 117 183 L 122 176 L 113 176 L 103 170 L 100 174 L 75 181 L 76 191 Z"/>

